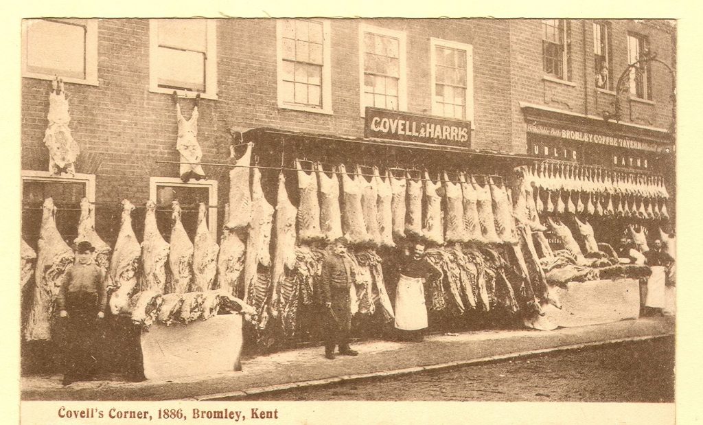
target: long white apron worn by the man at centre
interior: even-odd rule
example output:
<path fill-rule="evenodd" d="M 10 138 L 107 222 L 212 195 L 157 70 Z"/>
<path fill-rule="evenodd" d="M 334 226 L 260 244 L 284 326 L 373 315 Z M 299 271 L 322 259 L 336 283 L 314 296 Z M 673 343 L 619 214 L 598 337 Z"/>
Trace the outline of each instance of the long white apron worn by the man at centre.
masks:
<path fill-rule="evenodd" d="M 403 331 L 427 327 L 425 288 L 420 277 L 400 275 L 396 290 L 395 327 Z"/>

